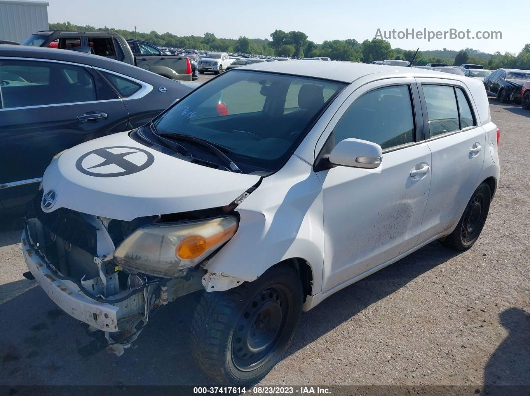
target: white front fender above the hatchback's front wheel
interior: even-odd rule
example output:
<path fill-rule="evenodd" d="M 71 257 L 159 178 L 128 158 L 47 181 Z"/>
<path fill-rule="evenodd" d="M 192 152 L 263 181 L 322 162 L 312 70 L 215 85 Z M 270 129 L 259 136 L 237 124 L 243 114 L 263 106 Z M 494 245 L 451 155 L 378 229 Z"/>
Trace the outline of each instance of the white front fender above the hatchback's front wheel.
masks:
<path fill-rule="evenodd" d="M 237 232 L 207 263 L 210 273 L 251 282 L 280 261 L 301 257 L 320 292 L 324 262 L 322 185 L 306 162 L 293 158 L 236 208 Z"/>

